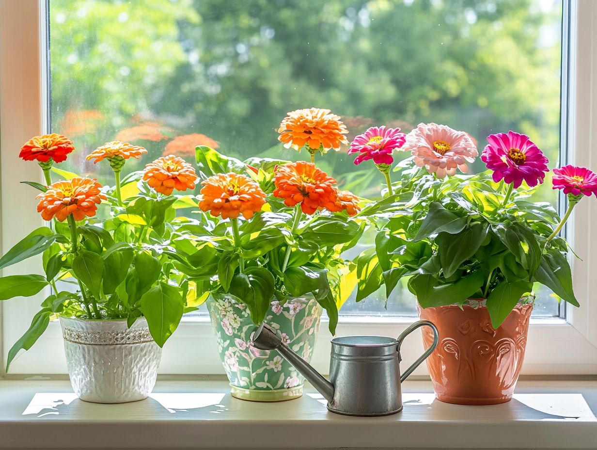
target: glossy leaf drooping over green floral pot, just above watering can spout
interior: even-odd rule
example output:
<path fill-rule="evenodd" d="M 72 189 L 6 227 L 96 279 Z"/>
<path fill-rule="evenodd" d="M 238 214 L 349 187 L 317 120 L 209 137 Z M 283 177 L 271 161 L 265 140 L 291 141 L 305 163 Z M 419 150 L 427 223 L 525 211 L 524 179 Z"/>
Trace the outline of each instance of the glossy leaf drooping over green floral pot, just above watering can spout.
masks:
<path fill-rule="evenodd" d="M 273 298 L 275 280 L 263 267 L 253 267 L 232 277 L 230 293 L 249 308 L 251 320 L 260 325 Z"/>

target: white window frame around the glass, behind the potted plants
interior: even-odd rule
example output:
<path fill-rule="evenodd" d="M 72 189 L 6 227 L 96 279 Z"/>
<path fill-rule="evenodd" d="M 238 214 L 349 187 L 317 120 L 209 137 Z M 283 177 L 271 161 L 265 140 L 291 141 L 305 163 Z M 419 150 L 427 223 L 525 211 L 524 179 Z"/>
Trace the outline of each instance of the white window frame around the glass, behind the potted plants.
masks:
<path fill-rule="evenodd" d="M 564 44 L 562 146 L 571 149 L 568 163 L 597 169 L 597 2 L 564 1 Z M 8 250 L 37 226 L 42 219 L 36 212 L 35 192 L 21 180 L 41 182 L 35 163 L 17 157 L 20 146 L 31 136 L 47 131 L 47 105 L 44 79 L 47 62 L 42 58 L 46 36 L 39 30 L 46 17 L 44 0 L 0 0 L 0 250 Z M 570 8 L 570 9 L 569 9 Z M 566 22 L 566 21 L 565 21 Z M 36 27 L 35 24 L 40 24 Z M 564 42 L 566 39 L 564 39 Z M 568 81 L 568 82 L 567 82 Z M 591 131 L 593 130 L 593 133 Z M 584 200 L 574 212 L 569 234 L 574 249 L 584 261 L 573 262 L 573 278 L 581 308 L 567 308 L 567 319 L 531 320 L 527 356 L 522 373 L 526 375 L 586 375 L 597 373 L 597 201 Z M 39 273 L 40 258 L 21 262 L 2 275 Z M 0 302 L 0 350 L 5 362 L 11 345 L 29 326 L 44 295 Z M 397 336 L 413 322 L 408 318 L 341 317 L 338 335 L 376 334 Z M 422 352 L 418 333 L 402 347 L 406 362 Z M 330 333 L 322 324 L 313 354 L 315 368 L 326 373 L 330 353 Z M 65 374 L 60 325 L 50 323 L 47 332 L 29 351 L 11 365 L 10 376 Z M 4 363 L 1 364 L 4 370 Z M 164 346 L 162 374 L 223 374 L 207 318 L 183 320 Z M 0 372 L 0 376 L 3 372 Z M 416 375 L 427 375 L 421 366 Z"/>

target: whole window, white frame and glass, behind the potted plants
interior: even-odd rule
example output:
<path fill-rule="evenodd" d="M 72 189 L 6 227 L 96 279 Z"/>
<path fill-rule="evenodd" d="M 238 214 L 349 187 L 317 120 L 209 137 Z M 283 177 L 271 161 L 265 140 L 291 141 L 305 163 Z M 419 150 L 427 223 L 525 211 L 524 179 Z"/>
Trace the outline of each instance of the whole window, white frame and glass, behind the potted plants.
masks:
<path fill-rule="evenodd" d="M 113 139 L 145 146 L 147 160 L 168 152 L 192 161 L 199 143 L 239 158 L 303 159 L 279 145 L 275 128 L 287 111 L 309 106 L 341 115 L 349 137 L 371 124 L 408 132 L 436 121 L 466 130 L 481 150 L 488 134 L 514 129 L 529 134 L 552 166 L 558 158 L 596 165 L 587 130 L 597 127 L 589 114 L 597 99 L 586 93 L 597 91 L 591 72 L 597 7 L 589 1 L 251 0 L 223 8 L 217 0 L 47 0 L 2 8 L 2 37 L 19 36 L 19 45 L 0 39 L 5 249 L 41 222 L 30 188 L 18 184 L 41 174 L 15 161 L 14 149 L 42 130 L 75 140 L 78 151 L 62 169 L 101 182 L 111 181 L 109 168 L 85 155 Z M 38 22 L 42 39 L 22 35 Z M 320 161 L 346 188 L 377 195 L 377 174 L 354 166 L 345 151 Z M 136 164 L 126 167 L 143 167 Z M 482 169 L 477 161 L 473 170 Z M 550 189 L 540 192 L 541 200 L 558 204 Z M 584 261 L 574 266 L 574 278 L 584 306 L 597 288 L 590 284 L 597 242 L 588 226 L 597 223 L 597 210 L 575 215 L 570 232 Z M 23 268 L 5 274 L 13 270 Z M 347 302 L 338 333 L 397 335 L 415 314 L 410 293 L 397 291 L 387 310 L 382 293 Z M 534 317 L 544 319 L 534 322 L 525 372 L 597 371 L 597 336 L 589 326 L 595 308 L 564 314 L 549 292 L 538 293 Z M 5 302 L 4 352 L 38 304 Z M 323 328 L 314 364 L 325 371 Z M 212 339 L 205 317 L 182 323 L 162 372 L 221 373 Z M 416 357 L 412 342 L 405 359 Z M 61 345 L 60 327 L 50 327 L 11 372 L 64 373 Z"/>

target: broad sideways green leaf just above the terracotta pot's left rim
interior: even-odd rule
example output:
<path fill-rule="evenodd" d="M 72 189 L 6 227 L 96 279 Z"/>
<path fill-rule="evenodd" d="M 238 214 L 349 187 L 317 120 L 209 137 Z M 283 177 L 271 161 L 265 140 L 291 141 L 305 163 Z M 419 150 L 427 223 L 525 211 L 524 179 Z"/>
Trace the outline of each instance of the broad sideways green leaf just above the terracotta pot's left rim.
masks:
<path fill-rule="evenodd" d="M 422 308 L 461 304 L 472 296 L 485 281 L 485 273 L 476 271 L 460 278 L 456 283 L 440 284 L 433 275 L 413 275 L 408 288 L 417 296 Z"/>

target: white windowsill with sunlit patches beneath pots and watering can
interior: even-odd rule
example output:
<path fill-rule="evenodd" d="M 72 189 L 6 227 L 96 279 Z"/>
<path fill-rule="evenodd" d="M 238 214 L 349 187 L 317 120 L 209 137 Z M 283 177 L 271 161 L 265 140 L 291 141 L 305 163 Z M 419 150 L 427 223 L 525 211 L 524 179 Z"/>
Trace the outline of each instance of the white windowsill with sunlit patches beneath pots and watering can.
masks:
<path fill-rule="evenodd" d="M 141 402 L 76 399 L 68 381 L 0 381 L 0 448 L 596 448 L 597 381 L 521 381 L 512 402 L 458 406 L 429 381 L 403 385 L 386 417 L 328 412 L 312 388 L 252 403 L 225 381 L 158 381 Z"/>

